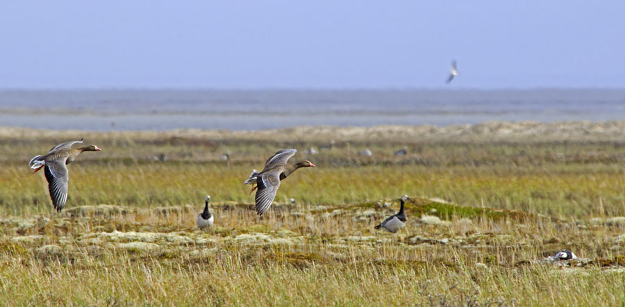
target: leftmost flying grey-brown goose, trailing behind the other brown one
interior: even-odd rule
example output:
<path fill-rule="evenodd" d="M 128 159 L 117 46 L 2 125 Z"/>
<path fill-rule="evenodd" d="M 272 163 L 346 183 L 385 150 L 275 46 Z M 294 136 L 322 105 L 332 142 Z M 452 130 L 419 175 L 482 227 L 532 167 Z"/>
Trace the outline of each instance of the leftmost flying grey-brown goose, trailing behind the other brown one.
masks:
<path fill-rule="evenodd" d="M 46 174 L 46 180 L 48 181 L 50 198 L 52 199 L 52 205 L 57 212 L 63 210 L 65 201 L 67 201 L 67 181 L 69 180 L 69 177 L 66 165 L 74 162 L 76 157 L 82 154 L 83 151 L 101 150 L 95 145 L 72 148 L 73 144 L 82 142 L 83 139 L 58 144 L 56 147 L 50 149 L 50 151 L 44 156 L 35 156 L 35 158 L 32 158 L 31 162 L 28 163 L 32 169 L 35 169 L 33 174 L 42 169 L 42 167 L 45 167 L 44 173 Z"/>

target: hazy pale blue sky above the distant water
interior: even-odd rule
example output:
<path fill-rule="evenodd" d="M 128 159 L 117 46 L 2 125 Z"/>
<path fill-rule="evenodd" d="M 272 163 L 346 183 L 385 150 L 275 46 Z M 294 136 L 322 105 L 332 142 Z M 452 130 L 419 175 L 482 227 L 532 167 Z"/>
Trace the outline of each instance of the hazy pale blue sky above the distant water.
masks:
<path fill-rule="evenodd" d="M 1 1 L 0 88 L 625 88 L 624 16 L 620 0 Z"/>

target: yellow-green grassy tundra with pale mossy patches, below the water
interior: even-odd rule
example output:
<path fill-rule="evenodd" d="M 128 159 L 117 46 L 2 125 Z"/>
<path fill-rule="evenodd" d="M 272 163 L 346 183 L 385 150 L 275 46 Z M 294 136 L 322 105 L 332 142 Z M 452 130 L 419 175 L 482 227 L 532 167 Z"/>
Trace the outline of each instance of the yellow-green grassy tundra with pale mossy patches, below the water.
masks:
<path fill-rule="evenodd" d="M 15 305 L 621 305 L 625 142 L 572 131 L 559 139 L 490 130 L 462 138 L 0 131 L 0 297 Z M 67 206 L 53 213 L 28 160 L 81 137 L 103 151 L 69 165 Z M 331 139 L 332 149 L 305 154 Z M 408 155 L 394 156 L 404 146 Z M 293 147 L 293 160 L 317 167 L 283 182 L 260 219 L 242 181 Z M 358 155 L 365 148 L 374 155 Z M 203 232 L 194 221 L 206 194 L 215 226 Z M 412 197 L 406 228 L 374 231 L 403 194 Z M 581 259 L 544 261 L 565 248 Z"/>

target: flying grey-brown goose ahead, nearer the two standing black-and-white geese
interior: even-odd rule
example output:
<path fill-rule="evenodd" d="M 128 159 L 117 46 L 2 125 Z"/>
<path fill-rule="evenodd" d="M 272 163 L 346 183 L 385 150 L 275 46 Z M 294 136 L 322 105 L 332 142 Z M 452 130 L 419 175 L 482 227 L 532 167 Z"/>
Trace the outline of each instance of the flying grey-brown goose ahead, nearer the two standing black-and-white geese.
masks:
<path fill-rule="evenodd" d="M 280 187 L 280 181 L 287 178 L 292 172 L 299 169 L 300 167 L 314 167 L 315 165 L 310 161 L 301 161 L 299 163 L 295 163 L 294 165 L 288 165 L 288 160 L 295 155 L 297 150 L 295 149 L 284 149 L 276 152 L 274 156 L 271 156 L 269 160 L 265 163 L 265 168 L 263 171 L 258 172 L 256 169 L 250 174 L 249 179 L 245 181 L 245 184 L 256 184 L 256 187 L 253 187 L 251 191 L 256 191 L 256 213 L 258 215 L 263 216 L 269 206 L 272 206 L 272 201 L 276 198 L 276 192 L 278 192 L 278 188 Z"/>

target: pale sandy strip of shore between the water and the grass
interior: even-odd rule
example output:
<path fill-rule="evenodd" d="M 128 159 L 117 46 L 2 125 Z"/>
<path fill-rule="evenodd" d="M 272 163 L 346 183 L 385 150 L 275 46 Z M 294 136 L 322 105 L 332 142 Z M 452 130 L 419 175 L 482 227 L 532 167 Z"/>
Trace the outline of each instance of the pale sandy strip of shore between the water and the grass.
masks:
<path fill-rule="evenodd" d="M 625 121 L 619 122 L 483 122 L 481 124 L 294 126 L 263 130 L 183 128 L 166 131 L 86 131 L 0 126 L 0 140 L 15 138 L 201 138 L 212 140 L 298 140 L 310 142 L 625 142 Z"/>

